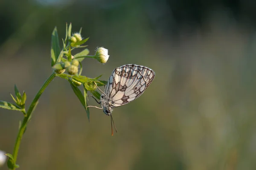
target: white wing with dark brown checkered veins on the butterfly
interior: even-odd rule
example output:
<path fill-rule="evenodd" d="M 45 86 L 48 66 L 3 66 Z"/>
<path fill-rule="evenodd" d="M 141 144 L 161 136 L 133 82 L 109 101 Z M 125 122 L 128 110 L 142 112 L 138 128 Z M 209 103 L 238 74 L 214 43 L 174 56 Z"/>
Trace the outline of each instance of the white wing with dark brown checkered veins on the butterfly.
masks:
<path fill-rule="evenodd" d="M 114 69 L 105 88 L 111 107 L 119 107 L 134 101 L 148 88 L 154 76 L 152 69 L 136 64 Z"/>

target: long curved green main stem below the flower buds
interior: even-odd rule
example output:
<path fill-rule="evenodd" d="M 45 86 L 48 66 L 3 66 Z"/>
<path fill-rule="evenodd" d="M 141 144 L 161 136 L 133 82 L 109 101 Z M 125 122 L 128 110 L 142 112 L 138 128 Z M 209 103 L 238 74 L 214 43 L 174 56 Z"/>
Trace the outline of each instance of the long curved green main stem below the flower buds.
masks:
<path fill-rule="evenodd" d="M 56 76 L 56 74 L 55 74 L 55 72 L 53 72 L 52 75 L 50 75 L 50 77 L 44 82 L 43 86 L 38 91 L 38 93 L 35 95 L 34 100 L 30 104 L 26 117 L 23 118 L 23 122 L 20 126 L 20 130 L 19 130 L 19 133 L 17 135 L 14 151 L 13 151 L 13 154 L 12 154 L 13 159 L 14 159 L 14 165 L 16 164 L 16 161 L 17 161 L 18 151 L 19 151 L 19 147 L 20 147 L 20 141 L 21 141 L 21 139 L 23 137 L 23 134 L 26 130 L 27 124 L 28 124 L 29 120 L 31 119 L 33 110 L 34 110 L 36 104 L 38 103 L 38 99 L 40 98 L 41 94 L 44 92 L 46 87 L 49 85 L 49 83 L 53 80 L 53 78 L 55 78 L 55 76 Z M 15 170 L 15 167 L 12 170 Z"/>

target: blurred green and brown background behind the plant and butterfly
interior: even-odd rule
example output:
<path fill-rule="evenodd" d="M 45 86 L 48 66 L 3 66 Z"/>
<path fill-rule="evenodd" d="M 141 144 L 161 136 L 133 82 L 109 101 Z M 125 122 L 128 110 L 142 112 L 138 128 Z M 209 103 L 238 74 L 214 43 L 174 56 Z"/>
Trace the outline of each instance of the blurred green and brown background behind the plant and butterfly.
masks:
<path fill-rule="evenodd" d="M 83 75 L 108 80 L 127 63 L 156 77 L 110 117 L 86 112 L 55 78 L 20 145 L 20 170 L 253 170 L 256 168 L 255 0 L 1 0 L 0 100 L 14 84 L 27 106 L 52 72 L 51 33 L 83 27 Z M 91 105 L 96 105 L 90 99 Z M 0 150 L 13 152 L 20 112 L 0 109 Z M 6 165 L 0 167 L 7 170 Z"/>

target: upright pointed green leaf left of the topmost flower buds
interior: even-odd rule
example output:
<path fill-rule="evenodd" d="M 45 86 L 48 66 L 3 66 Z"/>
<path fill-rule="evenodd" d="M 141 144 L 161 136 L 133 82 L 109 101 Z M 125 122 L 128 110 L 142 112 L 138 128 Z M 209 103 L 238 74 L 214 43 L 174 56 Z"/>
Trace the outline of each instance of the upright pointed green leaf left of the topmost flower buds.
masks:
<path fill-rule="evenodd" d="M 56 63 L 56 60 L 61 52 L 60 44 L 58 40 L 58 32 L 57 27 L 55 27 L 52 31 L 52 47 L 51 47 L 51 58 L 52 58 L 52 66 Z"/>

